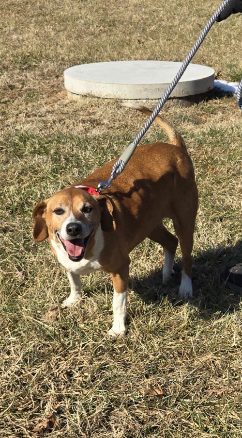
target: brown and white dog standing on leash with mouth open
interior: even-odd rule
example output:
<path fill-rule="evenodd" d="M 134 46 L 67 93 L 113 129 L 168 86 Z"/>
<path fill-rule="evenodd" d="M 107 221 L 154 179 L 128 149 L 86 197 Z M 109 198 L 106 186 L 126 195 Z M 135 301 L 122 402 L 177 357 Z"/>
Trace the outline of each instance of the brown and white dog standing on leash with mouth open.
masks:
<path fill-rule="evenodd" d="M 126 105 L 127 106 L 127 105 Z M 150 115 L 145 107 L 129 105 Z M 197 214 L 197 186 L 185 143 L 166 119 L 155 119 L 169 143 L 138 146 L 125 171 L 102 195 L 85 187 L 107 180 L 116 160 L 90 176 L 39 202 L 34 211 L 33 237 L 49 238 L 52 251 L 69 277 L 71 293 L 62 303 L 69 307 L 80 298 L 80 275 L 96 270 L 110 272 L 113 326 L 109 335 L 125 337 L 125 314 L 129 278 L 129 253 L 146 237 L 165 251 L 163 284 L 173 273 L 178 238 L 166 230 L 163 218 L 173 220 L 180 240 L 183 270 L 179 295 L 192 296 L 192 247 Z"/>

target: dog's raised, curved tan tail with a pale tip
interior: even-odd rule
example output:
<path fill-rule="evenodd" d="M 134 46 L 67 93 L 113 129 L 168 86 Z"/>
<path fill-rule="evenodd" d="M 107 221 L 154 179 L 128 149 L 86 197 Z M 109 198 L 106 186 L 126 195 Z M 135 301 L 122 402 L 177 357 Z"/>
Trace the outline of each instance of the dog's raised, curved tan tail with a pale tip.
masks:
<path fill-rule="evenodd" d="M 141 113 L 146 114 L 147 116 L 150 116 L 152 113 L 152 111 L 149 108 L 147 108 L 146 106 L 139 105 L 138 103 L 123 102 L 121 103 L 121 106 L 125 106 L 126 108 L 136 109 L 138 111 L 141 111 Z M 158 115 L 154 119 L 154 121 L 157 123 L 157 125 L 161 126 L 162 129 L 165 131 L 167 137 L 169 138 L 170 144 L 180 146 L 182 149 L 186 150 L 186 145 L 182 136 L 175 130 L 175 128 L 172 125 L 170 125 L 170 123 L 166 120 L 166 118 Z"/>

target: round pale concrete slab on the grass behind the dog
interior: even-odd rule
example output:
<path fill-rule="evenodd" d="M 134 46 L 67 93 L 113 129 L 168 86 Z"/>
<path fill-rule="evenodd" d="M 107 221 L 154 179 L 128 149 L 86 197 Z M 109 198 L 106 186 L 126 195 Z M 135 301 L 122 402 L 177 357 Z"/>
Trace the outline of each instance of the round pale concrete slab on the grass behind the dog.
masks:
<path fill-rule="evenodd" d="M 159 99 L 181 67 L 180 62 L 112 61 L 81 64 L 64 72 L 65 88 L 76 95 L 106 99 Z M 190 64 L 171 97 L 205 93 L 214 87 L 214 70 Z"/>

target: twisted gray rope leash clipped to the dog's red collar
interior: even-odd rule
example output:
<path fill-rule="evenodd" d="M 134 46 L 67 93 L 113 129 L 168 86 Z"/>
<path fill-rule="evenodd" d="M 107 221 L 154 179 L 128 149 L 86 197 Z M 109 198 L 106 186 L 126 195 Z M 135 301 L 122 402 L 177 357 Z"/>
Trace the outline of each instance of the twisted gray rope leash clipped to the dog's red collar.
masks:
<path fill-rule="evenodd" d="M 180 81 L 181 76 L 183 75 L 186 67 L 191 62 L 191 60 L 194 57 L 195 53 L 197 52 L 197 50 L 199 49 L 200 45 L 202 44 L 205 36 L 210 31 L 213 23 L 216 21 L 217 17 L 221 14 L 221 12 L 225 9 L 225 7 L 229 3 L 229 1 L 230 0 L 223 1 L 223 3 L 219 6 L 219 8 L 216 10 L 216 12 L 214 12 L 214 14 L 210 18 L 210 20 L 207 22 L 207 24 L 205 25 L 205 27 L 202 30 L 201 34 L 198 36 L 197 41 L 194 44 L 193 48 L 190 50 L 190 52 L 188 53 L 188 55 L 184 59 L 182 65 L 181 65 L 180 69 L 178 70 L 176 76 L 174 77 L 173 81 L 168 86 L 168 88 L 166 88 L 165 93 L 163 94 L 161 100 L 158 102 L 157 106 L 153 110 L 151 116 L 147 119 L 147 121 L 144 124 L 144 126 L 140 129 L 139 133 L 136 135 L 136 137 L 133 140 L 133 142 L 130 143 L 130 145 L 121 154 L 120 158 L 113 165 L 113 168 L 112 168 L 112 171 L 111 171 L 111 176 L 110 176 L 109 180 L 108 181 L 102 181 L 101 183 L 98 184 L 97 190 L 98 190 L 99 193 L 101 193 L 106 188 L 110 187 L 112 181 L 115 178 L 117 178 L 117 176 L 124 170 L 126 164 L 130 160 L 130 158 L 133 155 L 133 153 L 135 152 L 136 147 L 137 147 L 138 143 L 140 142 L 141 138 L 145 135 L 145 133 L 150 128 L 151 123 L 158 116 L 158 114 L 159 114 L 160 110 L 162 109 L 163 105 L 167 101 L 167 99 L 170 96 L 171 92 L 174 90 L 176 84 Z M 242 85 L 242 83 L 240 85 Z M 240 96 L 240 98 L 239 98 L 239 96 Z M 242 100 L 241 93 L 239 93 L 239 88 L 238 88 L 238 91 L 237 91 L 237 99 L 238 99 L 238 103 L 239 103 L 239 99 L 240 99 L 240 101 Z M 239 103 L 239 105 L 240 105 L 240 103 Z"/>

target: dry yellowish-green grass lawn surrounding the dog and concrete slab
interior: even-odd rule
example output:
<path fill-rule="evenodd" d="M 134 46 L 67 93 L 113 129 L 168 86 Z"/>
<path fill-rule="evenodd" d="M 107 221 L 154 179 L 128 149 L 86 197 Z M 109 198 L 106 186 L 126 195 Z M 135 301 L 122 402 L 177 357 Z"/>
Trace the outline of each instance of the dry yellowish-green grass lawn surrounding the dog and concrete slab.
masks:
<path fill-rule="evenodd" d="M 220 270 L 242 260 L 242 130 L 233 97 L 163 109 L 185 138 L 199 190 L 192 303 L 178 302 L 180 250 L 163 287 L 163 251 L 146 240 L 131 254 L 126 340 L 106 336 L 105 273 L 86 276 L 80 303 L 46 321 L 69 285 L 47 243 L 31 238 L 35 204 L 118 156 L 144 121 L 118 101 L 70 101 L 63 70 L 117 59 L 181 61 L 217 4 L 6 0 L 1 7 L 1 437 L 241 436 L 241 302 L 219 284 Z M 195 62 L 238 80 L 240 30 L 241 17 L 215 24 Z M 160 138 L 152 126 L 145 140 Z"/>

